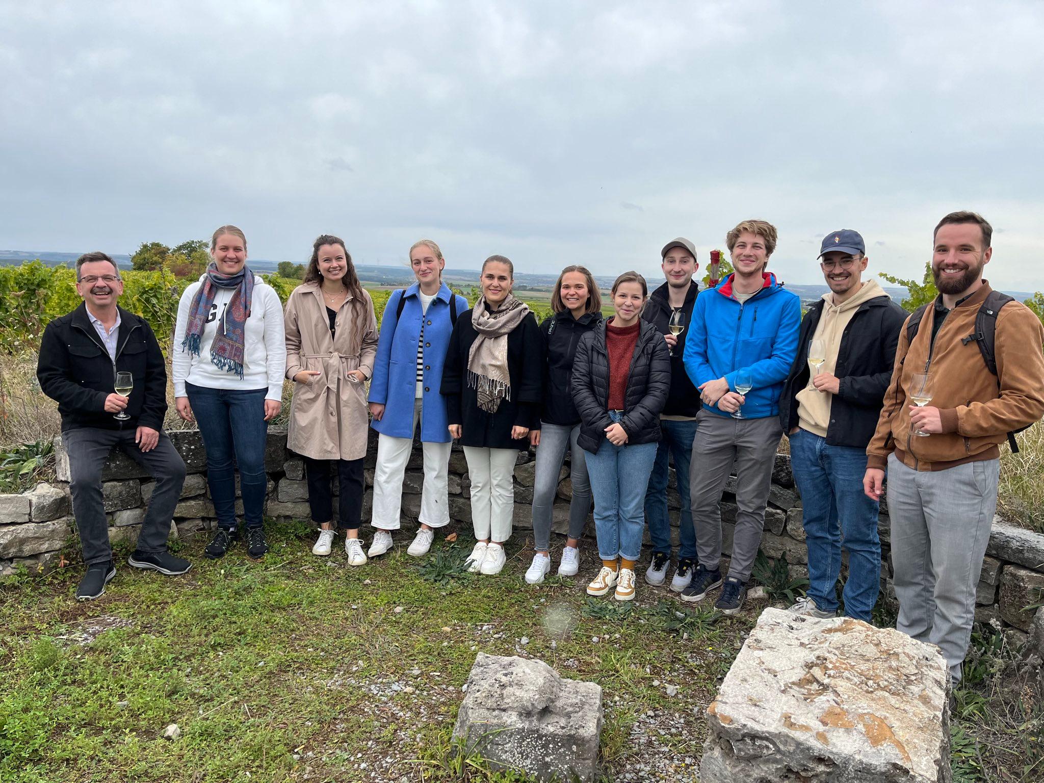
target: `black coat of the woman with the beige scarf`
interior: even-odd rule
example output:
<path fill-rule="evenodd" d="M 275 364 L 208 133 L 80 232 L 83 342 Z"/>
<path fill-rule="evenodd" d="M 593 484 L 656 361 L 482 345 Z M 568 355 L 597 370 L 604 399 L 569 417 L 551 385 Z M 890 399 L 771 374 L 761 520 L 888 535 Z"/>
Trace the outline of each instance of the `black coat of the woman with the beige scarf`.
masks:
<path fill-rule="evenodd" d="M 441 392 L 446 396 L 450 424 L 460 425 L 460 445 L 526 451 L 529 438 L 512 437 L 512 427 L 540 427 L 541 364 L 544 351 L 537 318 L 529 313 L 507 335 L 507 374 L 512 399 L 504 398 L 495 413 L 478 407 L 478 393 L 468 384 L 468 355 L 478 332 L 471 325 L 471 310 L 460 313 L 443 366 Z"/>

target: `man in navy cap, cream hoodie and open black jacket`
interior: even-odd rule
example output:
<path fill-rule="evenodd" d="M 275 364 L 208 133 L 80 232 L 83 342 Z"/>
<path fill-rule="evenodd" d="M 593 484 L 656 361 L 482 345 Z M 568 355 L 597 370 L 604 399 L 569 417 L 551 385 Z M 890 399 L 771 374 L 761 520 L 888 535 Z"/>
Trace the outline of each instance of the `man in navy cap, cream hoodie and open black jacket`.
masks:
<path fill-rule="evenodd" d="M 808 595 L 790 611 L 812 617 L 837 613 L 844 537 L 845 614 L 870 622 L 880 587 L 881 544 L 878 503 L 863 494 L 862 475 L 906 312 L 875 281 L 862 281 L 868 260 L 856 232 L 824 238 L 820 262 L 830 292 L 802 321 L 798 356 L 780 397 L 780 422 L 790 435 L 808 546 Z"/>

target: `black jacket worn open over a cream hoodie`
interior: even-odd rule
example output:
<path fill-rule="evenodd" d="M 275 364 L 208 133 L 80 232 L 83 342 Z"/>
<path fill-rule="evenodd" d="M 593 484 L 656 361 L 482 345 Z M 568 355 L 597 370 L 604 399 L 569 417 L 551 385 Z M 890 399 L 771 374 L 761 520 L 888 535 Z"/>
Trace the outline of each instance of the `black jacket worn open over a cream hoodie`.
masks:
<path fill-rule="evenodd" d="M 798 355 L 780 395 L 780 424 L 789 433 L 798 426 L 798 393 L 808 385 L 808 346 L 823 313 L 821 299 L 805 313 L 798 337 Z M 888 296 L 863 302 L 852 315 L 837 351 L 834 375 L 840 380 L 830 403 L 827 443 L 864 449 L 874 436 L 884 393 L 892 380 L 899 332 L 907 312 Z"/>

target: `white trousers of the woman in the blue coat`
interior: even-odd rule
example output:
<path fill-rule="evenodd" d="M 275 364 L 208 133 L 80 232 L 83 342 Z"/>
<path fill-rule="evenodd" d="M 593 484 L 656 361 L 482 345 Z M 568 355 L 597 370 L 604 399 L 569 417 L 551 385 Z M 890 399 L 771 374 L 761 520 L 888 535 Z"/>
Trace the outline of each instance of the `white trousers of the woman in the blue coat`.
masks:
<path fill-rule="evenodd" d="M 413 431 L 421 421 L 422 401 L 413 405 Z M 450 523 L 448 472 L 453 443 L 422 443 L 424 485 L 421 488 L 420 522 L 429 527 Z M 381 530 L 398 530 L 401 525 L 402 481 L 413 450 L 412 437 L 377 438 L 377 467 L 374 470 L 374 512 L 371 524 Z"/>

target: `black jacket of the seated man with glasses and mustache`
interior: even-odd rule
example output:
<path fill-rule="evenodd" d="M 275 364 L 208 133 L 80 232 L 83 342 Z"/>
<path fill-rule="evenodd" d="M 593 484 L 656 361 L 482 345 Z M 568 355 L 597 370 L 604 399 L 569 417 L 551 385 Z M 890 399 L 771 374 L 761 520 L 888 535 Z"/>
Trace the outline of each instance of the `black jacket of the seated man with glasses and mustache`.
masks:
<path fill-rule="evenodd" d="M 144 318 L 122 307 L 119 313 L 115 362 L 88 317 L 85 304 L 55 318 L 44 330 L 37 378 L 44 394 L 58 403 L 63 431 L 78 427 L 138 426 L 159 431 L 163 427 L 167 412 L 167 369 L 160 343 Z M 125 411 L 130 420 L 125 422 L 114 419 L 104 409 L 105 398 L 116 390 L 117 372 L 127 372 L 134 377 L 134 390 Z"/>

